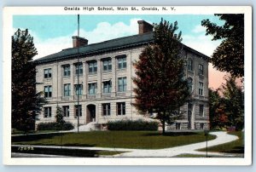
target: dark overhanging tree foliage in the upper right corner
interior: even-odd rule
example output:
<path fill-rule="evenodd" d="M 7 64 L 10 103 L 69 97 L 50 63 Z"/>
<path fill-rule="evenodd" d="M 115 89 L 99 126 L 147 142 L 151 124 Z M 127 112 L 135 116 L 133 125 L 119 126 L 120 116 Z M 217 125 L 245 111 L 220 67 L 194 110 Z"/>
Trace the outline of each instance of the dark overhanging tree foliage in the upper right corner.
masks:
<path fill-rule="evenodd" d="M 222 43 L 212 54 L 212 65 L 221 72 L 230 72 L 232 76 L 244 76 L 244 15 L 215 14 L 224 20 L 224 26 L 218 26 L 210 20 L 202 20 L 201 26 L 207 27 L 206 35 L 212 35 L 212 41 Z"/>

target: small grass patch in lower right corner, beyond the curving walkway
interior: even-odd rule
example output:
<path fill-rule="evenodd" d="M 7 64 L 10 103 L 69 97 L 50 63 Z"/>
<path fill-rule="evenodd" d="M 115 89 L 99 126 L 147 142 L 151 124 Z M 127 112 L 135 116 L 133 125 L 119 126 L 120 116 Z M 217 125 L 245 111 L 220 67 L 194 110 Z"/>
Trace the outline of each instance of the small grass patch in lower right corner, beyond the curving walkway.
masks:
<path fill-rule="evenodd" d="M 230 135 L 236 135 L 238 140 L 231 141 L 218 146 L 208 147 L 208 152 L 226 152 L 226 153 L 244 153 L 244 135 L 241 131 L 229 132 Z M 198 151 L 206 152 L 207 149 L 200 149 Z"/>

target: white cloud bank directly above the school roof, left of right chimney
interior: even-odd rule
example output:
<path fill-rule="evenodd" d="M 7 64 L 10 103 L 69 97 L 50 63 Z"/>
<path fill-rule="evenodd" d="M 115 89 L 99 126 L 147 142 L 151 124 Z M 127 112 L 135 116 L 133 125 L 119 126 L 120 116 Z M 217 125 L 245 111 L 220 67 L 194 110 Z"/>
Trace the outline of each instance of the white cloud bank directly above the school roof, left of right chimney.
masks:
<path fill-rule="evenodd" d="M 80 29 L 79 36 L 89 40 L 89 43 L 99 43 L 113 38 L 135 35 L 138 32 L 137 20 L 131 19 L 129 25 L 118 22 L 111 25 L 108 22 L 98 23 L 93 31 L 85 31 Z M 54 37 L 42 41 L 37 34 L 33 33 L 35 47 L 38 49 L 38 55 L 34 60 L 49 54 L 55 54 L 62 49 L 72 48 L 72 36 L 77 35 L 78 31 L 74 31 L 66 37 Z"/>

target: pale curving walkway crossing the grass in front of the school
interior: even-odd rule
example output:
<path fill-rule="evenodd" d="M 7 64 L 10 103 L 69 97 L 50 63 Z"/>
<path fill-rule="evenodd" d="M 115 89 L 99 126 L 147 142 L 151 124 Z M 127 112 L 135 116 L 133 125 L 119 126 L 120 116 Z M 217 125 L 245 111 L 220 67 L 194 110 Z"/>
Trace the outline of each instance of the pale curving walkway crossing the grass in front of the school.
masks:
<path fill-rule="evenodd" d="M 197 149 L 205 148 L 206 146 L 217 146 L 220 144 L 228 143 L 233 140 L 239 139 L 236 135 L 228 135 L 227 132 L 218 131 L 211 132 L 211 135 L 216 135 L 215 140 L 204 141 L 200 143 L 176 146 L 165 149 L 126 149 L 126 148 L 108 148 L 108 147 L 82 147 L 82 146 L 33 146 L 44 148 L 63 148 L 63 149 L 79 149 L 79 150 L 102 150 L 102 151 L 117 151 L 124 152 L 111 157 L 175 157 L 180 154 L 206 154 L 206 152 L 198 152 Z M 24 145 L 13 145 L 24 146 Z M 232 156 L 232 154 L 226 154 L 221 152 L 208 152 L 208 155 L 215 156 Z"/>

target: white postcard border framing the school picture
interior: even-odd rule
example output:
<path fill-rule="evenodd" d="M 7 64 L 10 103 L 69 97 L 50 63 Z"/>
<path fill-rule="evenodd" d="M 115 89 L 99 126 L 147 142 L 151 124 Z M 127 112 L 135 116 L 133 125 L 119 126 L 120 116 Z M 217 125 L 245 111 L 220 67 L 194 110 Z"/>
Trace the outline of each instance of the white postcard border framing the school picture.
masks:
<path fill-rule="evenodd" d="M 79 7 L 79 6 L 78 6 Z M 103 7 L 103 6 L 102 6 Z M 107 6 L 105 6 L 107 7 Z M 108 6 L 109 7 L 109 6 Z M 113 6 L 114 7 L 114 6 Z M 142 6 L 134 6 L 142 7 Z M 146 6 L 145 6 L 146 7 Z M 158 6 L 152 6 L 158 7 Z M 159 6 L 160 8 L 162 6 Z M 165 6 L 171 8 L 169 6 Z M 8 165 L 250 165 L 252 163 L 252 7 L 177 6 L 175 11 L 90 11 L 65 7 L 3 9 L 3 163 Z M 82 7 L 81 7 L 82 8 Z M 129 8 L 129 7 L 128 7 Z M 131 8 L 131 7 L 130 7 Z M 11 36 L 15 14 L 245 14 L 245 157 L 244 158 L 11 158 Z"/>

